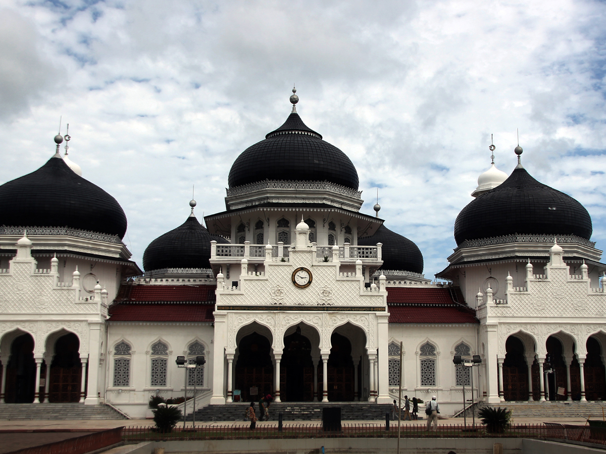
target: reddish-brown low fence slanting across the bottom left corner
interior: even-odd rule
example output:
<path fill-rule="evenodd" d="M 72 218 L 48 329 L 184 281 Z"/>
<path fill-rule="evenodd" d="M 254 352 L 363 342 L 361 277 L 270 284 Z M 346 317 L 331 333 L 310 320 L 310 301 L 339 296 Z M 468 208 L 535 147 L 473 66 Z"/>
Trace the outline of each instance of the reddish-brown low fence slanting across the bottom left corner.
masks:
<path fill-rule="evenodd" d="M 102 430 L 6 454 L 85 454 L 122 442 L 122 429 L 123 427 L 116 427 L 116 429 Z"/>

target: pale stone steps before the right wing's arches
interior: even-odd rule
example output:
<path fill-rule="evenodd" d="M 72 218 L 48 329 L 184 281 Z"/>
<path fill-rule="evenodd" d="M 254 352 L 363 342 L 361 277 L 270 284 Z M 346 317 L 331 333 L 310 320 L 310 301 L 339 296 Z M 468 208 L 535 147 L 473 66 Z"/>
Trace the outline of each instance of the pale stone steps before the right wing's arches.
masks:
<path fill-rule="evenodd" d="M 476 404 L 474 406 L 476 418 L 478 418 L 479 410 L 485 406 L 507 407 L 508 410 L 512 411 L 514 418 L 573 418 L 581 415 L 585 418 L 591 416 L 591 419 L 602 419 L 602 408 L 606 414 L 606 402 L 601 401 L 516 401 L 500 404 Z M 471 408 L 465 411 L 465 415 L 471 418 Z M 463 413 L 458 417 L 462 418 Z"/>

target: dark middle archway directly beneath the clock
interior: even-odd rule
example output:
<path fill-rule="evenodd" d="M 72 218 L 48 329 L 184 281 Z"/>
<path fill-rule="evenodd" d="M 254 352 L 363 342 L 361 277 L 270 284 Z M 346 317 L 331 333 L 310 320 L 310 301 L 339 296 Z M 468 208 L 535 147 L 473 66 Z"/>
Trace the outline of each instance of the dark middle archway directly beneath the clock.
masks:
<path fill-rule="evenodd" d="M 313 400 L 313 360 L 311 341 L 301 334 L 301 326 L 284 337 L 280 361 L 280 398 L 282 402 Z"/>

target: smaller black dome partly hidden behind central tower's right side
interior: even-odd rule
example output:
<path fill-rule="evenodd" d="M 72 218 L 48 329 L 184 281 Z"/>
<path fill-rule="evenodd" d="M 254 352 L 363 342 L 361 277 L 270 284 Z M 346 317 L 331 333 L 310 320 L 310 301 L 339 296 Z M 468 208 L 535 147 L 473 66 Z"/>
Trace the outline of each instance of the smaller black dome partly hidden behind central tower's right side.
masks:
<path fill-rule="evenodd" d="M 360 246 L 375 246 L 382 243 L 382 269 L 423 272 L 423 254 L 415 243 L 407 237 L 391 231 L 384 225 L 379 226 L 371 237 L 358 238 Z"/>

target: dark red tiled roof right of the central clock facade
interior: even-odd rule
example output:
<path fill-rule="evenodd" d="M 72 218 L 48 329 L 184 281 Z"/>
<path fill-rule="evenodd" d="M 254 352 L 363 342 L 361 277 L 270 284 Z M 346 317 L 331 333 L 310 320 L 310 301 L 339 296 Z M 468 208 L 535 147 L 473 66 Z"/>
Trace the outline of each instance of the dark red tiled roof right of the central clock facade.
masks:
<path fill-rule="evenodd" d="M 388 287 L 387 306 L 389 323 L 479 323 L 459 288 Z"/>

